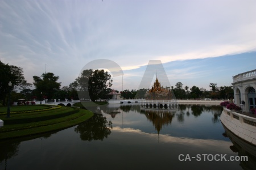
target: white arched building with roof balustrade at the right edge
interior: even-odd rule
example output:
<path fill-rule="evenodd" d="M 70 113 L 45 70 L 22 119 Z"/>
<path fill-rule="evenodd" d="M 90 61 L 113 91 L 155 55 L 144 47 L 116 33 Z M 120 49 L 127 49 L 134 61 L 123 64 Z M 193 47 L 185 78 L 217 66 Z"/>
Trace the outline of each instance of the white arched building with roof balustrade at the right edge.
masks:
<path fill-rule="evenodd" d="M 247 71 L 233 76 L 234 103 L 240 105 L 245 101 L 243 111 L 249 112 L 256 108 L 256 70 Z"/>

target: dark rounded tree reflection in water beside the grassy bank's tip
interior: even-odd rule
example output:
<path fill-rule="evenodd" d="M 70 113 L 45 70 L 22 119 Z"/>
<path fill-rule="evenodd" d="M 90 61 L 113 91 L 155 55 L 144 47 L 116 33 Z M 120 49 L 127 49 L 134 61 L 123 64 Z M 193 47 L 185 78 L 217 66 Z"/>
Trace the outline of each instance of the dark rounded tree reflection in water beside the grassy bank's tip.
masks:
<path fill-rule="evenodd" d="M 94 114 L 89 120 L 77 125 L 75 131 L 80 133 L 82 141 L 103 141 L 111 134 L 111 128 L 111 121 L 108 122 L 102 114 Z"/>

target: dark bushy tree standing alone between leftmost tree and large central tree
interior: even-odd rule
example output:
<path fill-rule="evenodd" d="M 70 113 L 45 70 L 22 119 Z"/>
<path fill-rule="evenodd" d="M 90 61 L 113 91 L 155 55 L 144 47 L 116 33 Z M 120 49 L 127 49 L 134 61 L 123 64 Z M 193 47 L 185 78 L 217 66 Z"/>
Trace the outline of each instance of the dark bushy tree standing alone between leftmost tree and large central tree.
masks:
<path fill-rule="evenodd" d="M 53 73 L 43 73 L 41 76 L 42 78 L 35 75 L 33 76 L 36 93 L 39 95 L 39 98 L 45 95 L 48 99 L 52 99 L 55 92 L 60 89 L 61 83 L 57 82 L 59 76 L 55 76 Z"/>

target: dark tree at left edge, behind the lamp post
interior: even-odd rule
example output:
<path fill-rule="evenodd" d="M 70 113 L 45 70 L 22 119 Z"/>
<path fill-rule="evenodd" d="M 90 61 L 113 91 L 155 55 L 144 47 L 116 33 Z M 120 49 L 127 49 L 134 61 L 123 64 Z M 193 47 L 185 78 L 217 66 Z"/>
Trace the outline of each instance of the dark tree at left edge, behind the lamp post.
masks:
<path fill-rule="evenodd" d="M 12 83 L 11 87 L 8 85 L 9 82 Z M 5 99 L 9 90 L 22 90 L 28 86 L 31 84 L 25 80 L 21 67 L 9 66 L 0 61 L 0 100 L 3 100 L 3 105 L 6 103 Z"/>

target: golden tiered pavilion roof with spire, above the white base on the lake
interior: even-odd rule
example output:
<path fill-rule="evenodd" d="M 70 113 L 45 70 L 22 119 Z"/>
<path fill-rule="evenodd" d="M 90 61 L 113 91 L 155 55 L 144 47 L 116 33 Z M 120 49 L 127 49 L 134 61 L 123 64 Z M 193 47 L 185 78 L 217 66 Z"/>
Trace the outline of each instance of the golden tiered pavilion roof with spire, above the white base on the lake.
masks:
<path fill-rule="evenodd" d="M 144 98 L 146 100 L 172 100 L 175 99 L 175 96 L 170 87 L 164 88 L 161 86 L 161 83 L 158 81 L 158 77 L 156 76 L 154 85 L 150 90 L 147 90 Z"/>

